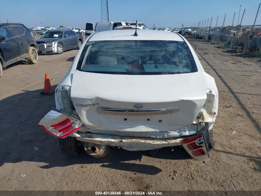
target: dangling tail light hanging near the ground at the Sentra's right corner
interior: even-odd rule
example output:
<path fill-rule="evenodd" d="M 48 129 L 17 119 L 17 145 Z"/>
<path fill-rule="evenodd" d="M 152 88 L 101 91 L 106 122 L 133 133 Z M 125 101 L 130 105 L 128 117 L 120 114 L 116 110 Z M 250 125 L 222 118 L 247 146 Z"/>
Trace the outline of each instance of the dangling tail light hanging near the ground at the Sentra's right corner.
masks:
<path fill-rule="evenodd" d="M 208 152 L 213 147 L 209 141 L 207 131 L 204 131 L 200 135 L 196 135 L 194 137 L 181 141 L 181 145 L 193 158 L 202 161 L 210 160 Z"/>

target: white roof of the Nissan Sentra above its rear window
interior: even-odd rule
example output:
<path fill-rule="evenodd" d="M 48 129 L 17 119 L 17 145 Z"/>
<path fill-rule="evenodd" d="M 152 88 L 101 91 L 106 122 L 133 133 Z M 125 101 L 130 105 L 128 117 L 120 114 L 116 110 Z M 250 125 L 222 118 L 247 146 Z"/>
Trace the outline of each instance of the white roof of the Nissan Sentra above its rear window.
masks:
<path fill-rule="evenodd" d="M 134 29 L 126 29 L 124 31 L 101 31 L 94 33 L 89 41 L 105 41 L 105 40 L 169 40 L 169 41 L 183 41 L 177 33 L 155 30 L 141 30 L 137 29 L 138 36 L 133 36 Z"/>

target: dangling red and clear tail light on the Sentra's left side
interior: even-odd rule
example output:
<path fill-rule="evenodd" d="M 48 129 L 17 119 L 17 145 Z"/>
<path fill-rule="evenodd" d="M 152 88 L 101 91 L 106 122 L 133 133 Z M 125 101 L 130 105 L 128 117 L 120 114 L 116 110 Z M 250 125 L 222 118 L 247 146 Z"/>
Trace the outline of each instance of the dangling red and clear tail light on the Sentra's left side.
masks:
<path fill-rule="evenodd" d="M 83 126 L 81 120 L 57 109 L 49 111 L 38 124 L 46 132 L 59 138 L 67 137 Z"/>

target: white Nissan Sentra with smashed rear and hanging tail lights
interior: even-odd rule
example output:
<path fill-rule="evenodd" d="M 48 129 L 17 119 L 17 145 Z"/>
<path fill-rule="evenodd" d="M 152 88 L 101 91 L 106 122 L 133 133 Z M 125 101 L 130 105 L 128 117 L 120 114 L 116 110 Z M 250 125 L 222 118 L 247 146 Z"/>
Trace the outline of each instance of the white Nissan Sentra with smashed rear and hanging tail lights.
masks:
<path fill-rule="evenodd" d="M 182 145 L 210 160 L 218 91 L 188 41 L 177 33 L 93 33 L 55 90 L 56 108 L 39 125 L 66 155 L 96 158 L 110 146 L 153 150 Z"/>

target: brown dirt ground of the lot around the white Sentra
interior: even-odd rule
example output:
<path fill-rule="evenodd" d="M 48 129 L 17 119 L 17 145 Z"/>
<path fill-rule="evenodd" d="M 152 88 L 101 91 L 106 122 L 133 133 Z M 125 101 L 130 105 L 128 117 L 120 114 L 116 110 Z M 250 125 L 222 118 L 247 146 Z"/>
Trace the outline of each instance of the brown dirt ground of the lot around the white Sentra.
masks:
<path fill-rule="evenodd" d="M 162 148 L 155 157 L 149 151 L 118 148 L 104 159 L 61 154 L 58 139 L 37 123 L 55 107 L 54 95 L 40 94 L 44 74 L 49 74 L 54 89 L 78 52 L 70 50 L 41 55 L 35 65 L 19 61 L 3 71 L 0 190 L 260 191 L 261 63 L 218 45 L 188 41 L 219 90 L 211 161 L 192 159 L 180 146 L 173 151 Z"/>

